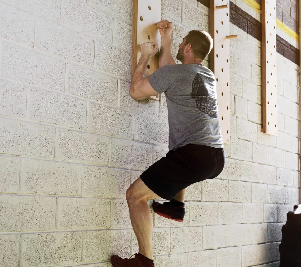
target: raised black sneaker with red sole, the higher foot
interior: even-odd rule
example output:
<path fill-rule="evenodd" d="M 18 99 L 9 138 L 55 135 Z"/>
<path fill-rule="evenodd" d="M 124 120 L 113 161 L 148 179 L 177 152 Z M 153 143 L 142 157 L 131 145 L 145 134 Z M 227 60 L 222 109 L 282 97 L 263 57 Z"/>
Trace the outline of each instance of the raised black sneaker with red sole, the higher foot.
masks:
<path fill-rule="evenodd" d="M 165 201 L 163 202 L 163 204 L 154 200 L 153 210 L 155 213 L 165 218 L 175 220 L 177 222 L 183 222 L 183 218 L 185 215 L 185 207 L 183 206 L 175 207 L 174 205 L 172 205 L 172 200 Z"/>

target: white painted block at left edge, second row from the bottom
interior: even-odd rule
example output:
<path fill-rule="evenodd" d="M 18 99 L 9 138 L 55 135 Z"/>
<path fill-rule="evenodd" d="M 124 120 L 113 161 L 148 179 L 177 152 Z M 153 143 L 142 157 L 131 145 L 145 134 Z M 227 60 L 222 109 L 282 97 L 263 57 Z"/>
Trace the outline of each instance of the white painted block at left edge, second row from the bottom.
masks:
<path fill-rule="evenodd" d="M 0 196 L 1 231 L 47 231 L 55 226 L 55 197 Z"/>

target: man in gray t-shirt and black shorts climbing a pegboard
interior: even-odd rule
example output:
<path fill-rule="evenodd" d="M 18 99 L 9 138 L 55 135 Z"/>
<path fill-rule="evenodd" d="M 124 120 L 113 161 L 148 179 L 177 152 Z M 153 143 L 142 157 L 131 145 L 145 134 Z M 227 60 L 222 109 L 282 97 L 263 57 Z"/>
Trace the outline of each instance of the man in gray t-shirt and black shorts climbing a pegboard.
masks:
<path fill-rule="evenodd" d="M 176 64 L 172 57 L 172 23 L 161 20 L 159 68 L 144 78 L 147 62 L 158 51 L 154 42 L 141 44 L 141 57 L 135 68 L 130 95 L 141 100 L 165 92 L 169 122 L 169 151 L 126 191 L 133 230 L 139 253 L 122 259 L 113 255 L 113 267 L 154 267 L 152 252 L 153 217 L 147 201 L 162 197 L 163 204 L 153 202 L 154 212 L 183 221 L 185 190 L 194 183 L 217 177 L 225 165 L 224 143 L 217 106 L 216 79 L 202 61 L 213 47 L 209 33 L 192 30 L 179 45 Z"/>

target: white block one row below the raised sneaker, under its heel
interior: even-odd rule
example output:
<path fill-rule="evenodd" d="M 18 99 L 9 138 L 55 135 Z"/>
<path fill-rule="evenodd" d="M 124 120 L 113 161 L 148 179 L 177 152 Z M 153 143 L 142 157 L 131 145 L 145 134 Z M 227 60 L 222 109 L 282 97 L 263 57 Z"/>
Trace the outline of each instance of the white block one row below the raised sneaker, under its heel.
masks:
<path fill-rule="evenodd" d="M 202 227 L 176 227 L 170 230 L 171 253 L 202 250 Z"/>

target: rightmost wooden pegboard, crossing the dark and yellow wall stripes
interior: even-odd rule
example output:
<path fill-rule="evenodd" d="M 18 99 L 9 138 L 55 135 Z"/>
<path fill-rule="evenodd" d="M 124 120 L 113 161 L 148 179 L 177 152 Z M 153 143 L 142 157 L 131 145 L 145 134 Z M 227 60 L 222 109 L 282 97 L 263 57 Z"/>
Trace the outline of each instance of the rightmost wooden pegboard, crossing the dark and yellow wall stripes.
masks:
<path fill-rule="evenodd" d="M 277 136 L 276 0 L 262 2 L 262 132 Z"/>

